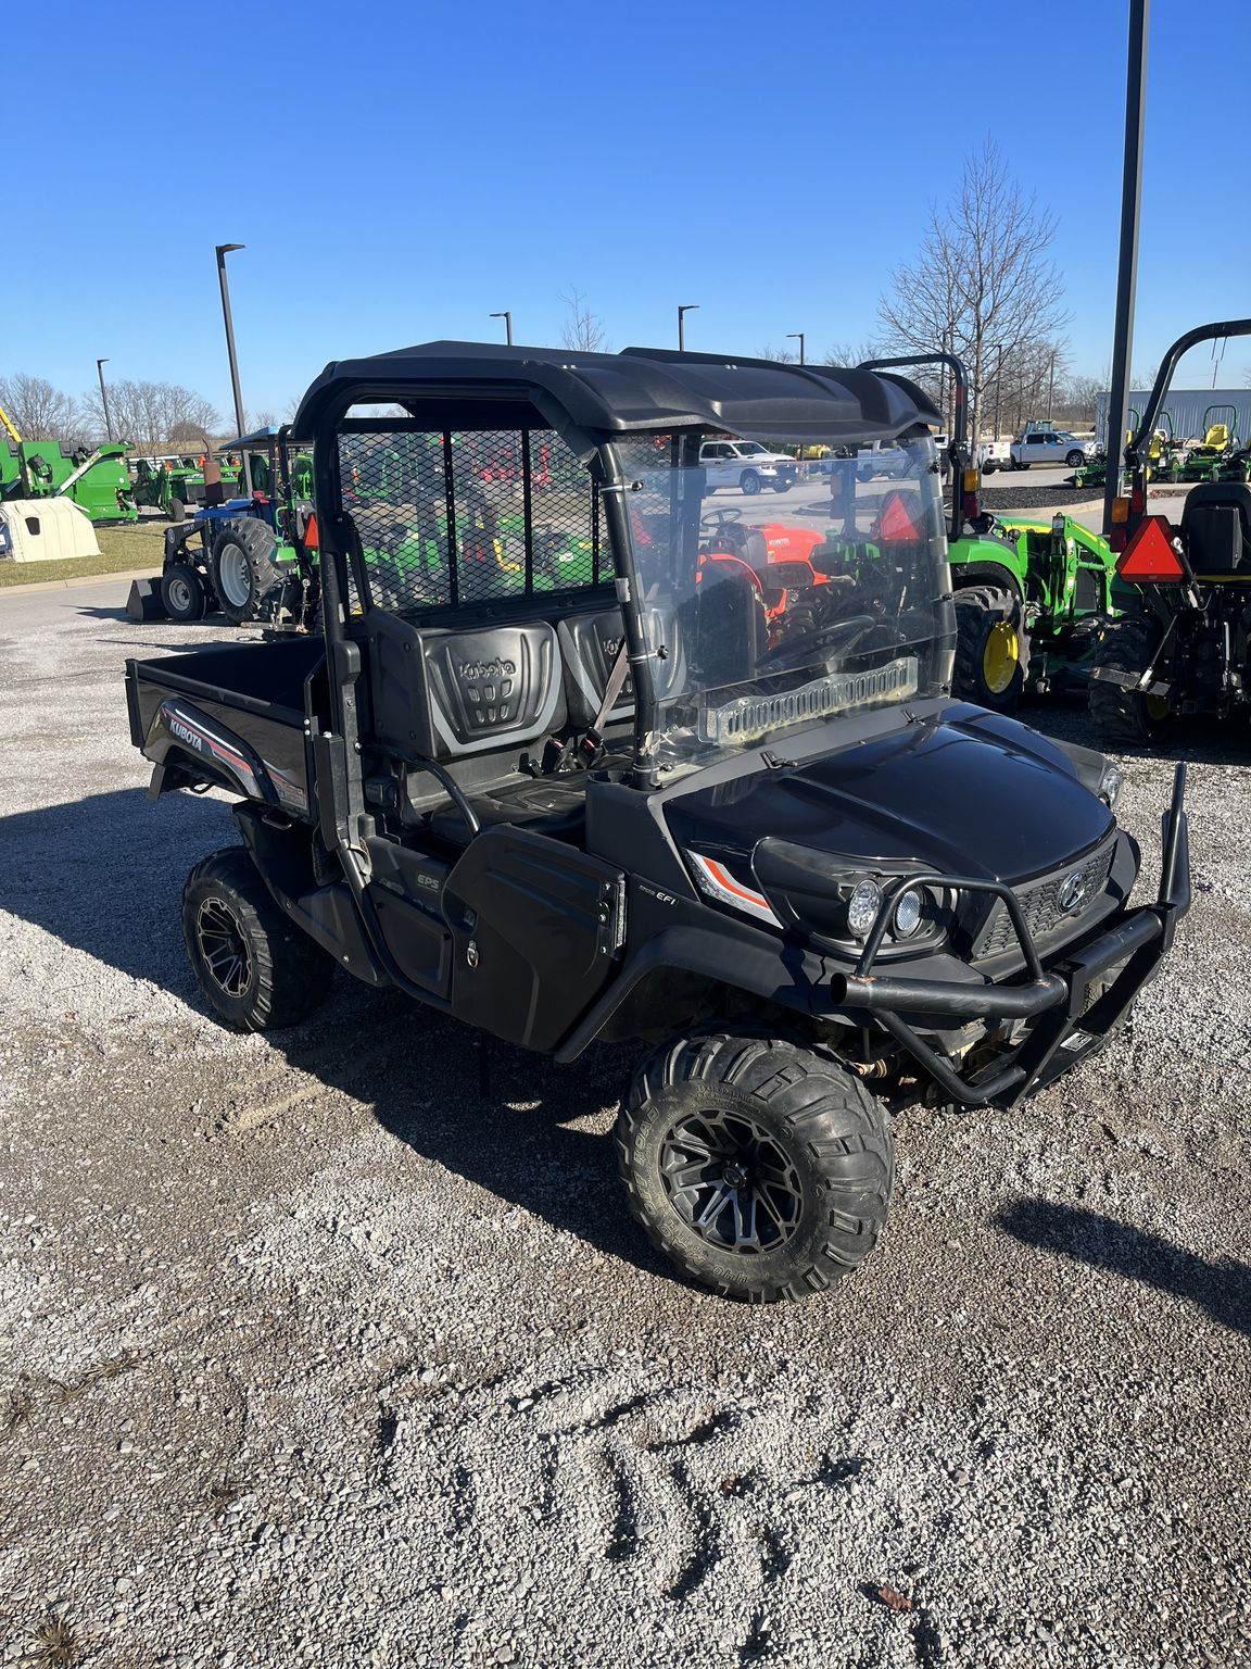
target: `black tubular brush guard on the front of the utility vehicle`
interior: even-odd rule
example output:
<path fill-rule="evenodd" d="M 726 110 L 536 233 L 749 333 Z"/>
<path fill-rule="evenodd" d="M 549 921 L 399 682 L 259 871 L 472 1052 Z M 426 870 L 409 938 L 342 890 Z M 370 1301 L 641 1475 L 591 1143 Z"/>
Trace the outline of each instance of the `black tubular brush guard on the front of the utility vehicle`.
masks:
<path fill-rule="evenodd" d="M 1168 955 L 1178 920 L 1191 905 L 1184 796 L 1186 766 L 1178 764 L 1173 799 L 1164 813 L 1164 858 L 1156 901 L 1129 910 L 1116 926 L 1086 943 L 1068 946 L 1056 966 L 1044 970 L 1021 903 L 1009 886 L 971 876 L 909 875 L 882 900 L 854 973 L 836 975 L 831 981 L 834 1001 L 871 1015 L 954 1102 L 964 1107 L 1014 1107 L 1101 1048 Z M 999 898 L 1021 946 L 1027 980 L 1019 985 L 956 985 L 874 975 L 894 895 L 902 886 Z M 1091 1000 L 1091 988 L 1109 970 L 1118 970 L 1114 978 Z M 904 1013 L 942 1020 L 1031 1020 L 1032 1025 L 1009 1056 L 962 1077 L 901 1018 Z"/>

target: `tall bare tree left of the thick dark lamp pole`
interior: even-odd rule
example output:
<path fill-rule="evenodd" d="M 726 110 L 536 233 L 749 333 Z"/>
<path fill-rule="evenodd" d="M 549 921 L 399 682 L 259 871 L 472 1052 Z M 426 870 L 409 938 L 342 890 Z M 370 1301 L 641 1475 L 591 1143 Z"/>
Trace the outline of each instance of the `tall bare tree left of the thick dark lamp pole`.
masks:
<path fill-rule="evenodd" d="M 976 437 L 987 381 L 1042 345 L 1054 352 L 1064 285 L 1048 257 L 1056 220 L 1009 179 L 992 140 L 964 160 L 946 209 L 931 204 L 917 257 L 894 270 L 879 317 L 891 350 L 959 354 Z"/>

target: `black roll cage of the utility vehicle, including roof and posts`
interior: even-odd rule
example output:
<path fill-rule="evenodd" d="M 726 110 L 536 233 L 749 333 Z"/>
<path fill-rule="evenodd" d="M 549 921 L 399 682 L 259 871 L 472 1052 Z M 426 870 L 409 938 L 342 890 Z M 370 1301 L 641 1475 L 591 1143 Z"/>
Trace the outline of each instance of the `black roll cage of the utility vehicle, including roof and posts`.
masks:
<path fill-rule="evenodd" d="M 354 416 L 354 409 L 370 406 L 390 412 L 399 409 L 402 416 Z M 432 624 L 500 618 L 505 611 L 525 618 L 535 611 L 535 437 L 555 436 L 572 454 L 585 471 L 590 492 L 590 589 L 610 584 L 622 613 L 634 683 L 634 783 L 654 786 L 642 763 L 644 739 L 656 716 L 654 654 L 647 646 L 641 586 L 632 571 L 624 502 L 631 482 L 620 442 L 666 436 L 677 459 L 684 439 L 697 446 L 704 434 L 731 432 L 776 444 L 821 441 L 849 446 L 896 439 L 937 422 L 939 412 L 919 387 L 904 377 L 881 377 L 862 367 L 836 371 L 662 349 L 570 354 L 472 342 L 434 342 L 327 366 L 305 394 L 292 432 L 314 446 L 330 694 L 335 724 L 347 744 L 345 771 L 335 773 L 334 779 L 342 781 L 347 801 L 359 809 L 359 791 L 350 791 L 350 778 L 359 776 L 359 768 L 352 771 L 352 753 L 359 744 L 355 684 L 362 664 L 360 619 L 367 601 L 389 604 L 385 596 L 372 596 L 379 576 L 370 576 L 360 532 L 367 507 L 354 501 L 354 482 L 345 481 L 344 437 L 360 437 L 362 446 L 395 437 L 409 447 L 412 469 L 405 491 L 412 491 L 412 501 L 405 502 L 405 511 L 410 509 L 417 522 L 415 539 L 410 541 L 412 571 L 425 561 L 425 516 L 427 526 L 439 527 L 449 572 L 437 596 L 412 586 L 400 587 L 390 606 L 415 609 Z M 500 434 L 519 437 L 524 501 L 515 561 L 519 582 L 507 598 L 475 596 L 462 582 L 464 549 L 455 539 L 460 502 L 455 494 L 454 436 Z M 432 451 L 432 437 L 439 437 L 442 459 L 424 476 L 415 447 L 424 444 Z M 435 502 L 439 489 L 432 486 L 439 477 L 442 504 Z M 482 539 L 499 556 L 504 542 L 499 526 L 485 526 Z M 582 582 L 582 596 L 585 589 Z M 554 608 L 567 601 L 559 584 L 549 586 L 547 601 Z"/>

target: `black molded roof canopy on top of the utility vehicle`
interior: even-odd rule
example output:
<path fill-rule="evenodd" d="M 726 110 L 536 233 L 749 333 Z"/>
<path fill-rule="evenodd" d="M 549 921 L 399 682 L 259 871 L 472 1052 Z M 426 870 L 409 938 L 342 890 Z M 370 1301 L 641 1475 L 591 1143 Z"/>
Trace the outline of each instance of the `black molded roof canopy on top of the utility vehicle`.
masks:
<path fill-rule="evenodd" d="M 627 347 L 424 342 L 340 359 L 300 401 L 295 434 L 337 424 L 354 404 L 397 402 L 430 429 L 552 427 L 590 436 L 726 431 L 761 441 L 886 441 L 942 422 L 904 377 L 767 359 Z"/>

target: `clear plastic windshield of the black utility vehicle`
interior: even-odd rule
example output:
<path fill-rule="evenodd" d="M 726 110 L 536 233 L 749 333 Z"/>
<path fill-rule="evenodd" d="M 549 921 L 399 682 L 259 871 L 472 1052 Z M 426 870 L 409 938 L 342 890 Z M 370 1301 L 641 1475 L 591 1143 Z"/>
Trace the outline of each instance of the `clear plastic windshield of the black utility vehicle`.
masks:
<path fill-rule="evenodd" d="M 787 447 L 796 464 L 774 484 L 701 466 L 689 441 L 647 436 L 617 451 L 657 696 L 641 763 L 697 768 L 949 684 L 954 614 L 929 436 L 847 456 Z"/>

